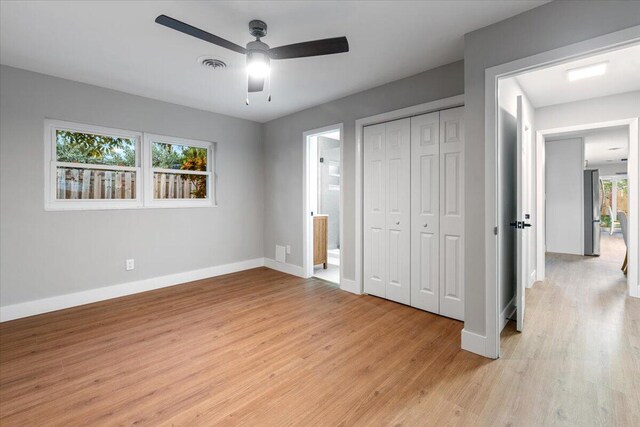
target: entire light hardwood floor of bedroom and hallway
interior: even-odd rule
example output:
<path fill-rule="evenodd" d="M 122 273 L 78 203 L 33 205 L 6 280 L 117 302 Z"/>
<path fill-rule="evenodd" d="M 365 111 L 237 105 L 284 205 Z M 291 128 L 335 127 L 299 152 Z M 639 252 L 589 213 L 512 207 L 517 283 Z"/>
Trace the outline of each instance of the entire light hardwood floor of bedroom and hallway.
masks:
<path fill-rule="evenodd" d="M 5 322 L 0 425 L 638 426 L 618 249 L 550 256 L 497 361 L 460 322 L 266 268 Z"/>

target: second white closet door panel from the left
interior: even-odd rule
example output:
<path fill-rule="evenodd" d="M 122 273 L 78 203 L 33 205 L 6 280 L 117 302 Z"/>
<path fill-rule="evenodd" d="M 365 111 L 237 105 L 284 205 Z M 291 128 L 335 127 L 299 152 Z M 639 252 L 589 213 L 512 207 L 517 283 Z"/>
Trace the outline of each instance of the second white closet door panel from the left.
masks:
<path fill-rule="evenodd" d="M 411 302 L 410 119 L 386 123 L 387 283 L 386 298 Z"/>

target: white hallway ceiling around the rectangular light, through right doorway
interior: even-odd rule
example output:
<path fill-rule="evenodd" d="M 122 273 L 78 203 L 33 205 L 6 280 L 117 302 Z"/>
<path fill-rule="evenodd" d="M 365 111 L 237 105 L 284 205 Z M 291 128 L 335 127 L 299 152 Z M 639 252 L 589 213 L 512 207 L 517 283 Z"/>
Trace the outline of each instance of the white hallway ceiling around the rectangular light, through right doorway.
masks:
<path fill-rule="evenodd" d="M 567 70 L 604 61 L 608 62 L 604 75 L 567 80 Z M 536 108 L 639 90 L 640 45 L 522 74 L 516 79 Z"/>

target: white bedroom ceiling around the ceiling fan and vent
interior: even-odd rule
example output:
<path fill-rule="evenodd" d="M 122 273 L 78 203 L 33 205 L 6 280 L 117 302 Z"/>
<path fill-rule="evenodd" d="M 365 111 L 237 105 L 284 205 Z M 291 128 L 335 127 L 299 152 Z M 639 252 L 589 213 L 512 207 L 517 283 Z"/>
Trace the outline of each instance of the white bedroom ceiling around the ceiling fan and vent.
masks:
<path fill-rule="evenodd" d="M 463 35 L 545 1 L 2 1 L 0 63 L 268 121 L 463 57 Z M 273 61 L 272 96 L 244 103 L 244 56 L 154 23 L 166 14 L 234 43 L 347 36 L 347 54 Z M 230 65 L 212 71 L 197 58 Z"/>

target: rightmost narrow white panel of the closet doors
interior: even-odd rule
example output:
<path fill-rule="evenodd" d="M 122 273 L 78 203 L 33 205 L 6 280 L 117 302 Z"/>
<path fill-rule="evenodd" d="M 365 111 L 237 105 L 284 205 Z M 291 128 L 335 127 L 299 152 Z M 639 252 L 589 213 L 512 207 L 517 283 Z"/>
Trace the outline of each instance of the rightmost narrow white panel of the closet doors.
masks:
<path fill-rule="evenodd" d="M 464 108 L 440 112 L 440 314 L 464 319 Z"/>

